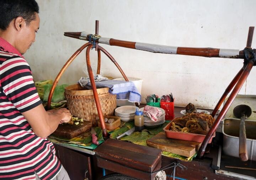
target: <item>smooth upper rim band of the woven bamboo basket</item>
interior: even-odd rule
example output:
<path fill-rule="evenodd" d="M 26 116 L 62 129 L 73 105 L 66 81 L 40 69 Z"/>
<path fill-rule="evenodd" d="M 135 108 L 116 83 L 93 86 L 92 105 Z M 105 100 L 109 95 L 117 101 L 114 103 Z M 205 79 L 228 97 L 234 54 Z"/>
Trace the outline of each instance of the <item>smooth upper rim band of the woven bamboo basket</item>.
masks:
<path fill-rule="evenodd" d="M 98 95 L 108 93 L 109 88 L 98 88 Z M 70 86 L 66 86 L 65 94 L 70 96 L 90 96 L 93 95 L 91 89 L 86 89 L 82 87 L 80 84 L 73 84 Z"/>

